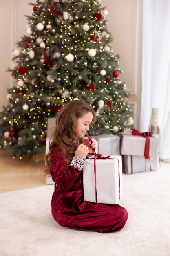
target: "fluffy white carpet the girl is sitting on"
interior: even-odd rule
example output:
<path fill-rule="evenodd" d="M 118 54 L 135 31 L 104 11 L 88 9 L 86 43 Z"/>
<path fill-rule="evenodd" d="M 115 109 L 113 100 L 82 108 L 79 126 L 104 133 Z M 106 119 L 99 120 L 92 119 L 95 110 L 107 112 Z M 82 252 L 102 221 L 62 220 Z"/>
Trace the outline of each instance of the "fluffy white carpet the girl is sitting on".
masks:
<path fill-rule="evenodd" d="M 167 166 L 167 165 L 166 165 Z M 0 194 L 0 256 L 170 256 L 170 164 L 123 175 L 124 229 L 67 229 L 51 216 L 53 185 Z"/>

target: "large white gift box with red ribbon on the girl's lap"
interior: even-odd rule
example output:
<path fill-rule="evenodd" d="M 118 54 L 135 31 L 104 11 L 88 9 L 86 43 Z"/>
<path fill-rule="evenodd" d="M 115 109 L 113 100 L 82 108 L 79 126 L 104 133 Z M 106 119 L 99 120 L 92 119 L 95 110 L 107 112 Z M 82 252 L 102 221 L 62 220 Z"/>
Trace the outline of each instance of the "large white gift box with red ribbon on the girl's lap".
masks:
<path fill-rule="evenodd" d="M 110 159 L 96 159 L 96 188 L 94 158 L 86 159 L 83 167 L 83 187 L 84 201 L 96 202 L 96 189 L 98 203 L 117 204 L 123 195 L 121 156 L 111 155 Z"/>

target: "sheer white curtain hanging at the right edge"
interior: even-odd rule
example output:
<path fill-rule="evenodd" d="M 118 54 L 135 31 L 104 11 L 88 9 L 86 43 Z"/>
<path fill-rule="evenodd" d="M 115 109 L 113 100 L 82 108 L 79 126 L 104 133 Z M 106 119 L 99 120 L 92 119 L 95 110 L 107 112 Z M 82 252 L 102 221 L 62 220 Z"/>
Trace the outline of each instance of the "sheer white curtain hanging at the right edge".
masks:
<path fill-rule="evenodd" d="M 161 159 L 170 159 L 170 0 L 143 0 L 140 131 L 159 108 Z"/>

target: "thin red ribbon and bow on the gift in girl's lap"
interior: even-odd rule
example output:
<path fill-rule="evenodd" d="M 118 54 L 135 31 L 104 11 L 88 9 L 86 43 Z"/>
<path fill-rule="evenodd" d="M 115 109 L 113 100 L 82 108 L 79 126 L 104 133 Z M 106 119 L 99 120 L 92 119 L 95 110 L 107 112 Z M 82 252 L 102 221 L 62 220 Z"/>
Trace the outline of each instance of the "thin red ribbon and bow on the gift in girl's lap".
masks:
<path fill-rule="evenodd" d="M 91 139 L 89 139 L 89 141 L 91 141 L 91 143 L 93 142 Z M 119 159 L 117 158 L 110 158 L 110 155 L 104 157 L 104 155 L 102 154 L 99 154 L 95 152 L 95 149 L 93 148 L 93 153 L 90 153 L 91 155 L 93 155 L 95 158 L 94 158 L 94 175 L 95 175 L 95 200 L 97 202 L 97 189 L 96 189 L 96 159 L 103 159 L 103 160 L 106 160 L 106 159 L 115 159 L 118 161 L 118 169 L 119 169 L 119 199 L 120 199 L 120 168 L 119 168 Z"/>

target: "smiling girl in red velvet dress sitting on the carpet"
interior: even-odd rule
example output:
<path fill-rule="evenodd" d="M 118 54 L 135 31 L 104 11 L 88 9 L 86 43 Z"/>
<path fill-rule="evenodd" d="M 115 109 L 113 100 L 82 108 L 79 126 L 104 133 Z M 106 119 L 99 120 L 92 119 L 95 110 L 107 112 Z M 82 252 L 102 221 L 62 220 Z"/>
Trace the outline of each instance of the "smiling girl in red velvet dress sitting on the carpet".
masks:
<path fill-rule="evenodd" d="M 95 111 L 84 100 L 70 101 L 57 115 L 45 171 L 55 182 L 52 215 L 71 229 L 116 232 L 128 218 L 125 208 L 84 201 L 82 168 L 95 142 L 84 145 L 83 137 L 94 122 Z"/>

